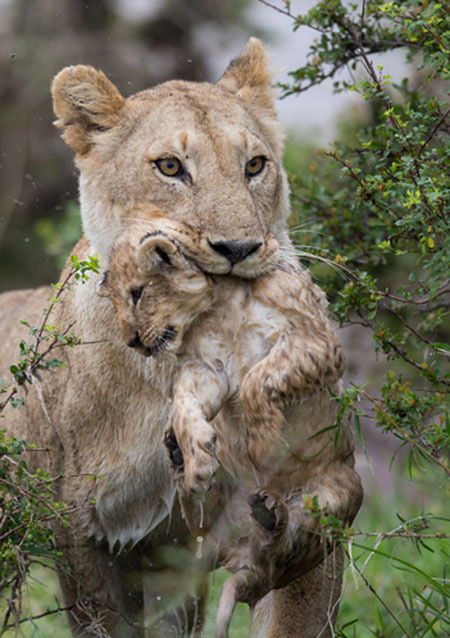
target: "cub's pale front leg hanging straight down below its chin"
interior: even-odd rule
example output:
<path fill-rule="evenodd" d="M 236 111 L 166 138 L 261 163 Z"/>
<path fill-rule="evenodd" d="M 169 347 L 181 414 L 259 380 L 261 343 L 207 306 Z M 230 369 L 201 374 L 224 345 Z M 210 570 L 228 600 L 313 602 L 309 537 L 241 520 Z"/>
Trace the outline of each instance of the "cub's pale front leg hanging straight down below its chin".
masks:
<path fill-rule="evenodd" d="M 219 467 L 217 434 L 210 421 L 223 407 L 228 380 L 220 361 L 187 360 L 175 386 L 172 428 L 183 456 L 184 483 L 188 492 L 208 489 Z"/>

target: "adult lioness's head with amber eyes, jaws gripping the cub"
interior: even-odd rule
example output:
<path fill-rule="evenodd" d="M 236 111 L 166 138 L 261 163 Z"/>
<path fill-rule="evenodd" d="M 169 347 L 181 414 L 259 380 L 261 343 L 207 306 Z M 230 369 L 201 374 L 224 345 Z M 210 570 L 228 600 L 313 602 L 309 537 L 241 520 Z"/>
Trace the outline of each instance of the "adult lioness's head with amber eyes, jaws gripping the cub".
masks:
<path fill-rule="evenodd" d="M 199 234 L 205 272 L 270 269 L 272 238 L 287 245 L 288 189 L 258 40 L 216 84 L 176 80 L 124 98 L 101 71 L 72 66 L 52 92 L 56 125 L 76 152 L 84 231 L 103 263 L 153 205 Z"/>

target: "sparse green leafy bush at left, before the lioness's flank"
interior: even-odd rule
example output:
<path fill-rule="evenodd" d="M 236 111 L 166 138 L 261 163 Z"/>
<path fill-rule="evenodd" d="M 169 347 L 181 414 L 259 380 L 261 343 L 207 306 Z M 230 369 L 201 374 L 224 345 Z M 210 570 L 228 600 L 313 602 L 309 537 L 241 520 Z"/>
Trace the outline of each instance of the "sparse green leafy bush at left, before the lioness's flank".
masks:
<path fill-rule="evenodd" d="M 72 326 L 52 325 L 50 319 L 64 290 L 74 282 L 84 283 L 91 271 L 99 272 L 95 257 L 80 262 L 72 256 L 65 278 L 53 285 L 41 324 L 32 326 L 22 321 L 31 342 L 20 342 L 20 359 L 10 366 L 11 381 L 0 379 L 0 417 L 6 405 L 20 408 L 25 404 L 26 388 L 39 382 L 41 370 L 65 365 L 55 358 L 59 348 L 81 343 Z M 42 451 L 0 430 L 0 601 L 5 603 L 0 635 L 9 628 L 17 629 L 27 619 L 23 589 L 31 569 L 38 565 L 65 569 L 62 555 L 54 546 L 52 524 L 69 525 L 73 508 L 55 500 L 53 485 L 61 477 L 51 477 L 36 468 L 37 463 L 30 463 Z M 41 615 L 57 611 L 59 608 Z"/>

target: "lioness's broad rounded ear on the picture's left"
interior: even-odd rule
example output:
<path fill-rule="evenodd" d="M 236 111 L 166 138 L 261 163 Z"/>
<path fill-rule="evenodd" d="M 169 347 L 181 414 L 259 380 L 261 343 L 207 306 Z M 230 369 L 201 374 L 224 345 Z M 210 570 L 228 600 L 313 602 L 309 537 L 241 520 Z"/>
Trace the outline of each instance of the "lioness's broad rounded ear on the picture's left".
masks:
<path fill-rule="evenodd" d="M 68 66 L 52 83 L 55 126 L 63 130 L 62 138 L 78 154 L 89 151 L 89 133 L 115 126 L 125 98 L 102 71 L 92 66 Z"/>

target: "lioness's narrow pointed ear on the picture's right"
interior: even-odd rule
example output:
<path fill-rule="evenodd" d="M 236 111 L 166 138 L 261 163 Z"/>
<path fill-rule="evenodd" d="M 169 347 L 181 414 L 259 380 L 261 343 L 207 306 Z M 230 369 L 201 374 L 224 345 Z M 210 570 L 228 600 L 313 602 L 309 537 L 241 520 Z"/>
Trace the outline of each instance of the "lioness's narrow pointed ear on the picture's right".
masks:
<path fill-rule="evenodd" d="M 268 55 L 260 40 L 250 38 L 245 50 L 232 60 L 217 84 L 276 115 Z"/>

